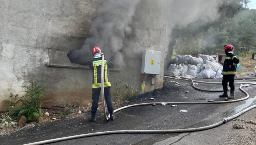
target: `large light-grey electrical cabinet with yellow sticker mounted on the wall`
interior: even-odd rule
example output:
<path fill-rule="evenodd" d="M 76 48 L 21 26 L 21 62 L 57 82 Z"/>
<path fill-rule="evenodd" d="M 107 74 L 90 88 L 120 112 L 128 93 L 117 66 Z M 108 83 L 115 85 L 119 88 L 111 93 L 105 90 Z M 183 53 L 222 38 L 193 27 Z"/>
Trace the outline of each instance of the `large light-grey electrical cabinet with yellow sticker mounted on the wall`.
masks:
<path fill-rule="evenodd" d="M 161 51 L 143 50 L 141 74 L 160 74 Z"/>

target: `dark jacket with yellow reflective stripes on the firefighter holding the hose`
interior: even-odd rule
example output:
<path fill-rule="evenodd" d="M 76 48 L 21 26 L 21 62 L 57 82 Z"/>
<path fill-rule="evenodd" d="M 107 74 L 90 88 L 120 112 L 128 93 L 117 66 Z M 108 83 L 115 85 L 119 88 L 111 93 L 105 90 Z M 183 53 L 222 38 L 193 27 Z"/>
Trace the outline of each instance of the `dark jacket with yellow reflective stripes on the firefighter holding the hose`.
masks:
<path fill-rule="evenodd" d="M 101 60 L 102 58 L 93 58 L 90 63 L 89 67 L 92 69 L 92 88 L 101 88 Z M 104 87 L 111 87 L 109 75 L 108 75 L 108 68 L 111 68 L 113 63 L 105 58 L 104 60 Z"/>

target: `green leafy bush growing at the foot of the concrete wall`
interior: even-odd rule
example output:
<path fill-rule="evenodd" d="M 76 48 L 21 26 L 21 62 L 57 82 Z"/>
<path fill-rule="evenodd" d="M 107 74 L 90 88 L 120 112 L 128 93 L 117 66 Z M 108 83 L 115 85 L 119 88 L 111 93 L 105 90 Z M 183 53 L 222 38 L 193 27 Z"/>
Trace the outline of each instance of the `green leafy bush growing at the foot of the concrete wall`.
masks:
<path fill-rule="evenodd" d="M 22 88 L 26 88 L 26 93 L 22 97 L 18 97 L 18 95 L 10 95 L 10 100 L 3 100 L 3 103 L 7 105 L 7 107 L 12 108 L 10 110 L 10 116 L 12 118 L 19 118 L 24 115 L 27 118 L 28 122 L 40 121 L 40 117 L 43 115 L 41 110 L 41 106 L 43 104 L 43 93 L 46 89 L 43 85 L 37 85 L 35 81 L 30 81 L 29 86 L 22 86 Z M 20 103 L 20 106 L 16 107 L 16 105 Z"/>

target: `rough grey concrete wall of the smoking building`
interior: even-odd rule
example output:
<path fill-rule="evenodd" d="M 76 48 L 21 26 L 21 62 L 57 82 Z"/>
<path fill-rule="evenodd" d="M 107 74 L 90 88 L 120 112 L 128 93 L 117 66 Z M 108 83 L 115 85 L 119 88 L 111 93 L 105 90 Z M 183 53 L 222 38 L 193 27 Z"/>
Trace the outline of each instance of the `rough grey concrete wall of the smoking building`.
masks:
<path fill-rule="evenodd" d="M 10 92 L 22 95 L 21 86 L 31 79 L 48 87 L 44 106 L 76 101 L 80 104 L 81 88 L 83 104 L 91 102 L 92 71 L 87 66 L 70 64 L 66 55 L 70 50 L 81 48 L 102 1 L 1 1 L 0 102 L 8 98 Z M 154 86 L 149 85 L 148 80 L 146 91 L 163 85 L 165 3 L 166 0 L 141 0 L 134 17 L 134 30 L 125 40 L 127 48 L 134 51 L 137 47 L 162 51 L 161 74 L 157 75 Z M 125 51 L 128 49 L 124 49 L 124 54 Z M 115 78 L 119 78 L 140 90 L 141 51 L 126 56 L 126 64 L 120 72 L 110 71 L 112 86 Z M 114 87 L 112 94 L 113 91 Z M 0 103 L 0 110 L 3 109 Z"/>

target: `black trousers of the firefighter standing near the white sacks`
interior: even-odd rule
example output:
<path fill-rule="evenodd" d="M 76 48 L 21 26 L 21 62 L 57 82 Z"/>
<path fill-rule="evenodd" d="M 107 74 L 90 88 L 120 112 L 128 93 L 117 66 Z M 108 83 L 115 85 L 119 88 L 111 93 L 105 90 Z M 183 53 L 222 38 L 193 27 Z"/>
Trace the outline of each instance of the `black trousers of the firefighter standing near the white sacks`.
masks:
<path fill-rule="evenodd" d="M 224 93 L 226 94 L 228 93 L 228 83 L 229 83 L 230 94 L 234 94 L 234 91 L 235 91 L 234 81 L 235 81 L 235 75 L 223 75 L 222 87 L 223 87 Z"/>

